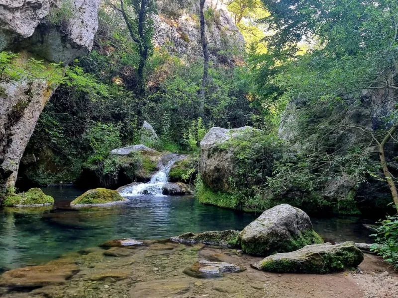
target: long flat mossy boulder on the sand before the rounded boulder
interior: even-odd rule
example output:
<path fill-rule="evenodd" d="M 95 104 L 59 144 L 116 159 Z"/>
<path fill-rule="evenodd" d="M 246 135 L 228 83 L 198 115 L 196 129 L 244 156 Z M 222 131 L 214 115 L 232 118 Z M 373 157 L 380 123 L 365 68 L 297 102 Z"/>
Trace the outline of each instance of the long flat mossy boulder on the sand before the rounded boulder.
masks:
<path fill-rule="evenodd" d="M 363 260 L 363 253 L 354 242 L 336 245 L 324 243 L 268 256 L 253 267 L 277 273 L 324 274 L 355 268 Z"/>

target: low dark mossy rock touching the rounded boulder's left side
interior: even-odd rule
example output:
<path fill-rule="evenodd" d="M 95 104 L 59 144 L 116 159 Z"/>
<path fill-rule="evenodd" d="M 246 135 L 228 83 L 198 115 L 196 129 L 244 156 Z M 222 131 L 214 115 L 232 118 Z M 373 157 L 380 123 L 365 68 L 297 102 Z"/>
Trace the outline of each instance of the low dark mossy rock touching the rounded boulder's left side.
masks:
<path fill-rule="evenodd" d="M 180 243 L 218 245 L 222 247 L 239 247 L 239 231 L 207 231 L 199 234 L 185 233 L 170 240 Z"/>

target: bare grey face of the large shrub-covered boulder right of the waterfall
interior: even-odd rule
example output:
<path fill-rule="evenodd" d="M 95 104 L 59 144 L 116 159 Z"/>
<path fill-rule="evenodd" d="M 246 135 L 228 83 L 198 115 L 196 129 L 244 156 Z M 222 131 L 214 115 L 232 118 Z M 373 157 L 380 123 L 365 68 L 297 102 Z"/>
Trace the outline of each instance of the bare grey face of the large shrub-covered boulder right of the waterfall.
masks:
<path fill-rule="evenodd" d="M 246 126 L 228 130 L 213 127 L 200 142 L 200 177 L 211 190 L 227 192 L 230 189 L 229 177 L 234 170 L 232 151 L 217 147 L 250 130 L 254 128 Z"/>

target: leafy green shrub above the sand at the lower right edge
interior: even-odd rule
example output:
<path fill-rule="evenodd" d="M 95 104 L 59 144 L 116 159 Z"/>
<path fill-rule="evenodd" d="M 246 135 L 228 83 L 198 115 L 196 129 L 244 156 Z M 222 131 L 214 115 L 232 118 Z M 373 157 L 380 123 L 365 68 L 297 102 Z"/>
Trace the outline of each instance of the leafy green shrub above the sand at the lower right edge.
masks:
<path fill-rule="evenodd" d="M 387 217 L 381 221 L 381 226 L 377 229 L 376 244 L 371 248 L 377 252 L 384 260 L 398 269 L 398 215 Z"/>

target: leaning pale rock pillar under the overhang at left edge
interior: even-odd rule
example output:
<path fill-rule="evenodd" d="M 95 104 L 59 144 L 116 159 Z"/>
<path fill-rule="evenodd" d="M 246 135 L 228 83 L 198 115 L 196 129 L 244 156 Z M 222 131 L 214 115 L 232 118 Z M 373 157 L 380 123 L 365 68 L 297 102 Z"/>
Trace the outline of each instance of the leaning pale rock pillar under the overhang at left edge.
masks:
<path fill-rule="evenodd" d="M 47 82 L 0 84 L 0 204 L 5 192 L 15 185 L 23 152 L 44 106 L 54 92 Z"/>

